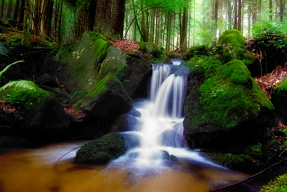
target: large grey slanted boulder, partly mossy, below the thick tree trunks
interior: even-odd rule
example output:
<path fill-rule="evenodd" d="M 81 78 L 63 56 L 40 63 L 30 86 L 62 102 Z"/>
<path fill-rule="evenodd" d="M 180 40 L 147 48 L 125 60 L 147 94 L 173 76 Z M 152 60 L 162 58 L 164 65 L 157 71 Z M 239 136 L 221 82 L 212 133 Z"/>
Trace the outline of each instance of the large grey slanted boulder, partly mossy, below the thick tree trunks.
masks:
<path fill-rule="evenodd" d="M 95 32 L 87 31 L 74 43 L 55 50 L 52 58 L 43 60 L 40 75 L 47 73 L 74 94 L 91 91 L 108 74 L 113 74 L 126 64 L 127 55 L 113 47 L 113 43 Z"/>

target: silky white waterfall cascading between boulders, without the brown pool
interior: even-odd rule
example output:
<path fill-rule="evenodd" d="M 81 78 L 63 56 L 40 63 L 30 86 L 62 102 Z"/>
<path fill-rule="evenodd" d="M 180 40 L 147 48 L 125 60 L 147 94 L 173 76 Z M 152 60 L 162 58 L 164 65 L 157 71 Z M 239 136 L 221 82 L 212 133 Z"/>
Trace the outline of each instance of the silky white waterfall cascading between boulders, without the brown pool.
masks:
<path fill-rule="evenodd" d="M 164 158 L 163 151 L 177 159 L 212 164 L 186 144 L 183 107 L 188 70 L 180 61 L 176 64 L 153 64 L 148 98 L 135 101 L 127 115 L 130 123 L 122 134 L 128 150 L 111 165 L 132 168 L 139 175 L 174 165 Z"/>

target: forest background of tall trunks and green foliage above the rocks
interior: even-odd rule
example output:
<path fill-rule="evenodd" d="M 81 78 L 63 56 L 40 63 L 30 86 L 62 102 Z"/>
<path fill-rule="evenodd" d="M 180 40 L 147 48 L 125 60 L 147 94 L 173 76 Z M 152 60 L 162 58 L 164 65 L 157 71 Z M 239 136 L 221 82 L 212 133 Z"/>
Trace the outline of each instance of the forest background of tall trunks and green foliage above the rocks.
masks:
<path fill-rule="evenodd" d="M 0 0 L 2 22 L 57 45 L 95 31 L 112 39 L 154 42 L 166 51 L 215 45 L 234 28 L 247 38 L 287 31 L 286 0 Z M 26 44 L 27 41 L 22 44 Z"/>

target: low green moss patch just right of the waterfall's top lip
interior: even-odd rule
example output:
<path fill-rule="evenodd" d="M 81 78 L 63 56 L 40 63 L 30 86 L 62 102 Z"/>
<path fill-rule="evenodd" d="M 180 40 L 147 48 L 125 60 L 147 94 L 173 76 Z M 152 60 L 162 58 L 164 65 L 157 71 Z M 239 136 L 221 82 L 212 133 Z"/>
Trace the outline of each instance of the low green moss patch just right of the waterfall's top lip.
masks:
<path fill-rule="evenodd" d="M 221 66 L 220 62 L 213 56 L 194 56 L 188 61 L 184 61 L 181 64 L 189 67 L 191 72 L 203 72 L 208 73 Z"/>

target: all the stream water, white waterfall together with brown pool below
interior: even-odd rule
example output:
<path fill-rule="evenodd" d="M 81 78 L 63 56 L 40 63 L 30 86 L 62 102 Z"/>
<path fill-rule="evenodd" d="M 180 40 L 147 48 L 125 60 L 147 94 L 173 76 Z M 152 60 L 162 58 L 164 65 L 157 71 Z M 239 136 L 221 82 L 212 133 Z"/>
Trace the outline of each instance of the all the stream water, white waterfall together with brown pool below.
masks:
<path fill-rule="evenodd" d="M 213 164 L 187 146 L 182 124 L 187 69 L 179 64 L 153 65 L 148 98 L 135 101 L 126 115 L 133 123 L 122 133 L 127 147 L 123 156 L 108 165 L 78 165 L 73 162 L 72 151 L 57 162 L 88 141 L 0 149 L 0 191 L 196 192 L 249 176 Z M 241 186 L 230 191 L 253 189 Z"/>

